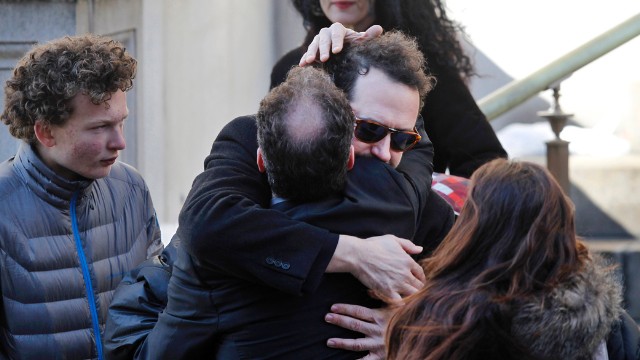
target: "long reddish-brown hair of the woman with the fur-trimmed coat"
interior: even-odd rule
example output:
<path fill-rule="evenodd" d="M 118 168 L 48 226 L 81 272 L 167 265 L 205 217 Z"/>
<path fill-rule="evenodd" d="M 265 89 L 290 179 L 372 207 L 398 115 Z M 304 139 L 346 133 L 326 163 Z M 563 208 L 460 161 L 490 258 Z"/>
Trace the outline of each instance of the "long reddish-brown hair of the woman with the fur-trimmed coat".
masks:
<path fill-rule="evenodd" d="M 571 201 L 543 167 L 480 167 L 449 235 L 422 262 L 425 287 L 387 332 L 388 359 L 527 359 L 509 334 L 511 308 L 579 271 Z"/>

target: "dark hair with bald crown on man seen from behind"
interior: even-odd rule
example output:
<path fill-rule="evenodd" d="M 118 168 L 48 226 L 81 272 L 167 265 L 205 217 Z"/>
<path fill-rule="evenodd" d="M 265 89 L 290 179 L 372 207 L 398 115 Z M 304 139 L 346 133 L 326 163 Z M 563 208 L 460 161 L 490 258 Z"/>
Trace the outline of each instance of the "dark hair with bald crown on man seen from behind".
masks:
<path fill-rule="evenodd" d="M 354 115 L 323 71 L 293 68 L 260 102 L 258 144 L 272 192 L 296 202 L 344 188 Z"/>

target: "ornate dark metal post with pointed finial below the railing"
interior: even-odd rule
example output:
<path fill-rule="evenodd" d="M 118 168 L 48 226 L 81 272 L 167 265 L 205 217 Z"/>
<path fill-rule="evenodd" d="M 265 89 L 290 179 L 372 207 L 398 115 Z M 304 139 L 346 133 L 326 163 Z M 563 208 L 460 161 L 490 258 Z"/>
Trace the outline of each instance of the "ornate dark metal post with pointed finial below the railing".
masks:
<path fill-rule="evenodd" d="M 556 178 L 565 194 L 570 195 L 571 183 L 569 182 L 569 142 L 560 139 L 560 132 L 567 124 L 567 119 L 573 114 L 567 114 L 560 107 L 560 84 L 551 88 L 553 90 L 553 104 L 547 111 L 538 112 L 538 116 L 549 121 L 551 130 L 556 135 L 554 140 L 547 142 L 547 168 Z"/>

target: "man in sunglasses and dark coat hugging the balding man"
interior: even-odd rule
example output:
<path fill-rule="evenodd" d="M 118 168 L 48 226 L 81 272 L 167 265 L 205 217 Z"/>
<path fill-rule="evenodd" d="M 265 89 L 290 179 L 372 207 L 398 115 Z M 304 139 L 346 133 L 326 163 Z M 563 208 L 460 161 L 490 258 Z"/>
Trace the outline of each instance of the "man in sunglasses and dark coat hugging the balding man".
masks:
<path fill-rule="evenodd" d="M 409 156 L 411 151 L 396 150 L 406 150 L 411 143 L 399 141 L 406 137 L 397 134 L 411 133 L 421 126 L 417 120 L 425 95 L 419 80 L 420 74 L 424 76 L 424 58 L 415 42 L 401 34 L 388 33 L 353 44 L 334 55 L 324 67 L 347 93 L 355 116 L 368 124 L 363 126 L 361 122 L 358 129 L 356 123 L 356 155 L 380 159 L 399 171 L 419 163 L 432 173 L 431 160 L 425 163 L 424 159 Z M 384 125 L 384 131 L 372 126 L 376 123 Z M 397 131 L 387 131 L 385 126 Z M 385 136 L 373 142 L 381 132 Z M 415 245 L 391 235 L 370 240 L 335 235 L 266 209 L 271 200 L 269 184 L 256 174 L 253 156 L 242 155 L 252 153 L 253 141 L 223 130 L 214 142 L 211 155 L 205 160 L 206 170 L 195 179 L 179 218 L 178 235 L 190 254 L 212 266 L 231 269 L 237 276 L 294 295 L 313 293 L 325 272 L 349 272 L 387 299 L 400 299 L 421 287 L 421 269 L 406 258 L 421 250 Z M 391 147 L 392 142 L 396 149 Z M 424 207 L 418 214 L 413 240 L 425 252 L 437 246 L 453 222 L 451 208 L 438 196 L 431 196 L 430 185 L 430 177 L 422 184 L 413 184 L 422 191 Z M 270 258 L 289 266 L 273 266 Z M 336 313 L 327 321 L 350 327 L 353 321 L 342 315 L 362 310 L 339 305 L 332 308 Z M 367 338 L 332 338 L 328 345 L 370 350 L 380 356 L 384 352 L 380 346 L 381 328 L 386 319 L 379 313 L 375 316 L 360 329 Z"/>

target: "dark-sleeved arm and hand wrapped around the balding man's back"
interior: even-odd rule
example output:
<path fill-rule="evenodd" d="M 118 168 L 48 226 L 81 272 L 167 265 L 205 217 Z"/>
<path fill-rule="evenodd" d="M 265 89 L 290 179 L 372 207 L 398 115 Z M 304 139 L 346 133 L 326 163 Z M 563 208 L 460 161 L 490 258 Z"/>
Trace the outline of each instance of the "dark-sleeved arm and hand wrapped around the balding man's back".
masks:
<path fill-rule="evenodd" d="M 255 118 L 235 119 L 220 132 L 193 183 L 178 236 L 203 266 L 291 294 L 313 292 L 325 271 L 352 273 L 392 298 L 422 282 L 408 255 L 421 248 L 408 241 L 338 236 L 268 209 L 271 190 L 256 166 L 256 151 Z M 371 248 L 378 257 L 364 256 Z"/>

